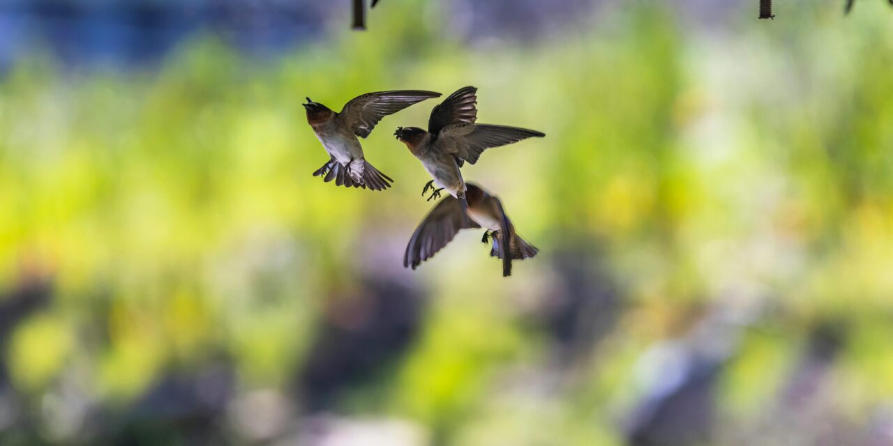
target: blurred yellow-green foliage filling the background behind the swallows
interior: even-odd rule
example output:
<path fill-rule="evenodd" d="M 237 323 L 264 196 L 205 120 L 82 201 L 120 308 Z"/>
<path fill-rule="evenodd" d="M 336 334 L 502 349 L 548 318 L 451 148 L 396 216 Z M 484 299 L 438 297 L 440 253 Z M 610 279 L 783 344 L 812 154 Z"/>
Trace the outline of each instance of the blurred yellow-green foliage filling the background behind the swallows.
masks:
<path fill-rule="evenodd" d="M 765 310 L 723 374 L 723 409 L 756 417 L 807 328 L 832 319 L 849 333 L 839 404 L 864 417 L 893 401 L 893 28 L 880 4 L 843 20 L 795 3 L 785 20 L 743 14 L 705 34 L 638 4 L 538 44 L 469 46 L 413 21 L 436 7 L 404 2 L 277 62 L 201 37 L 157 71 L 21 63 L 0 80 L 0 288 L 50 277 L 54 300 L 15 328 L 13 384 L 40 395 L 74 374 L 121 405 L 165 370 L 227 357 L 242 388 L 284 389 L 330 301 L 371 274 L 421 286 L 430 308 L 375 397 L 344 399 L 348 414 L 406 417 L 459 444 L 619 443 L 641 353 L 733 301 Z M 305 96 L 338 108 L 464 85 L 480 88 L 481 122 L 547 133 L 464 169 L 542 250 L 511 279 L 480 234 L 402 270 L 430 203 L 391 133 L 433 102 L 363 142 L 393 189 L 310 176 L 327 157 Z M 560 398 L 506 392 L 506 370 L 549 363 L 525 321 L 563 292 L 556 265 L 580 246 L 619 290 L 617 325 L 555 384 Z"/>

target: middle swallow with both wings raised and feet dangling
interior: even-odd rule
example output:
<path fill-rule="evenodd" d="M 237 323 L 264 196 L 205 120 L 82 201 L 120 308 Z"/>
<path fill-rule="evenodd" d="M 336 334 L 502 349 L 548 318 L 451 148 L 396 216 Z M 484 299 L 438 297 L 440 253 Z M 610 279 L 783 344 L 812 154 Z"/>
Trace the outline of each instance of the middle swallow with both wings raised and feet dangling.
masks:
<path fill-rule="evenodd" d="M 459 200 L 463 211 L 468 207 L 465 182 L 460 168 L 465 161 L 478 162 L 480 153 L 490 147 L 510 145 L 545 133 L 527 128 L 476 124 L 478 119 L 478 89 L 463 87 L 434 107 L 428 120 L 428 130 L 417 127 L 397 128 L 394 136 L 421 161 L 431 178 L 421 196 L 434 189 L 428 201 L 447 189 Z"/>

